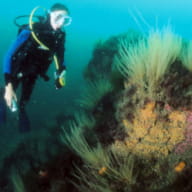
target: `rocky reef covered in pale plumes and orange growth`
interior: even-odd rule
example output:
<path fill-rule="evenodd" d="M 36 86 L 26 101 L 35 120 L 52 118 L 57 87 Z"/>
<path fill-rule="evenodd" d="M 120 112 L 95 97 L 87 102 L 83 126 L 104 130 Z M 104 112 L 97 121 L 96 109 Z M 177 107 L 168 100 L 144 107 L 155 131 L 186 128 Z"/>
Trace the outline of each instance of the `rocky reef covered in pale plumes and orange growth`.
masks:
<path fill-rule="evenodd" d="M 192 43 L 170 28 L 98 41 L 79 108 L 72 118 L 59 118 L 57 153 L 36 176 L 31 169 L 12 172 L 14 188 L 191 191 L 191 75 Z"/>

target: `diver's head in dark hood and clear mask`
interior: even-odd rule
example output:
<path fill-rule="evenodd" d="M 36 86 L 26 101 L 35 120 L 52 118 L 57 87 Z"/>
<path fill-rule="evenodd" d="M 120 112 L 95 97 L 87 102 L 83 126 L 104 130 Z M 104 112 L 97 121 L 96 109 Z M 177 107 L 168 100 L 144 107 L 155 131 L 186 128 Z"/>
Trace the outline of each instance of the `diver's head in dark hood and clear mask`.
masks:
<path fill-rule="evenodd" d="M 71 24 L 68 8 L 60 3 L 54 4 L 50 9 L 50 24 L 54 30 L 61 29 L 63 26 Z"/>

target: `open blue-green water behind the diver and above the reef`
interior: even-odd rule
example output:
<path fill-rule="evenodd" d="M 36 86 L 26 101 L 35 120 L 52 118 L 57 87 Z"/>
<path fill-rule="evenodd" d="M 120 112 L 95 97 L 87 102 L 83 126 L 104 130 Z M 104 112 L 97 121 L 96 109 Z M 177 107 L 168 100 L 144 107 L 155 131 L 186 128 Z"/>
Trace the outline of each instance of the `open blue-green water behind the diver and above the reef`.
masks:
<path fill-rule="evenodd" d="M 17 34 L 14 18 L 30 14 L 32 9 L 39 5 L 49 9 L 55 2 L 57 1 L 1 1 L 1 61 Z M 58 115 L 68 116 L 78 109 L 76 100 L 84 86 L 83 69 L 92 56 L 96 41 L 124 33 L 129 28 L 147 33 L 152 28 L 161 29 L 167 24 L 172 26 L 175 33 L 191 39 L 190 0 L 66 0 L 64 4 L 69 7 L 73 18 L 72 25 L 66 28 L 67 85 L 62 90 L 55 90 L 54 65 L 49 69 L 51 80 L 48 83 L 42 79 L 37 82 L 27 107 L 32 129 L 37 133 L 39 129 L 44 131 L 48 125 L 56 124 Z M 0 73 L 2 74 L 2 65 Z M 3 74 L 0 76 L 0 86 L 4 86 Z M 17 127 L 17 114 L 8 111 L 7 118 L 7 126 L 0 130 L 0 153 L 9 150 L 9 144 L 14 146 L 14 142 L 21 137 Z"/>

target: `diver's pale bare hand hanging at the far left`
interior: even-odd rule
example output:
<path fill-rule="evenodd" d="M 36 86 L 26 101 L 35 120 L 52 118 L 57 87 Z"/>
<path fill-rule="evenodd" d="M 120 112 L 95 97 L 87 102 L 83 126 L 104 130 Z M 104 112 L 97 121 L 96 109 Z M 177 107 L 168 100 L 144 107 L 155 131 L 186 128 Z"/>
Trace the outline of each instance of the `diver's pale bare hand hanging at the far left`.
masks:
<path fill-rule="evenodd" d="M 9 108 L 11 108 L 12 105 L 12 100 L 14 99 L 17 101 L 17 96 L 15 94 L 15 91 L 13 90 L 13 86 L 11 83 L 8 83 L 7 86 L 5 87 L 5 95 L 4 99 L 6 101 L 6 104 Z"/>

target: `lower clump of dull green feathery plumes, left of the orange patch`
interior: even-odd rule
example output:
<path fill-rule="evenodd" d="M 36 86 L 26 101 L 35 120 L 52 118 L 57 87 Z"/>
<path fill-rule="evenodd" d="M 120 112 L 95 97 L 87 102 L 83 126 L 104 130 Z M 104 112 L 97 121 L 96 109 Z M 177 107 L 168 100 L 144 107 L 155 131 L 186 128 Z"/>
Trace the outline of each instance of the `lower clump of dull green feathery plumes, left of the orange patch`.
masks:
<path fill-rule="evenodd" d="M 108 178 L 114 181 L 124 181 L 127 189 L 136 182 L 134 157 L 128 152 L 118 150 L 113 145 L 103 147 L 99 142 L 93 147 L 84 136 L 83 127 L 89 117 L 86 114 L 75 115 L 75 120 L 69 123 L 70 132 L 63 127 L 61 140 L 71 148 L 84 162 L 84 168 L 77 168 L 75 176 L 80 184 L 75 184 L 80 191 L 112 192 Z M 90 118 L 91 119 L 91 118 Z M 90 121 L 90 119 L 88 121 Z M 91 123 L 88 123 L 91 125 Z M 104 170 L 103 172 L 100 172 Z M 94 190 L 93 190 L 94 189 Z"/>

